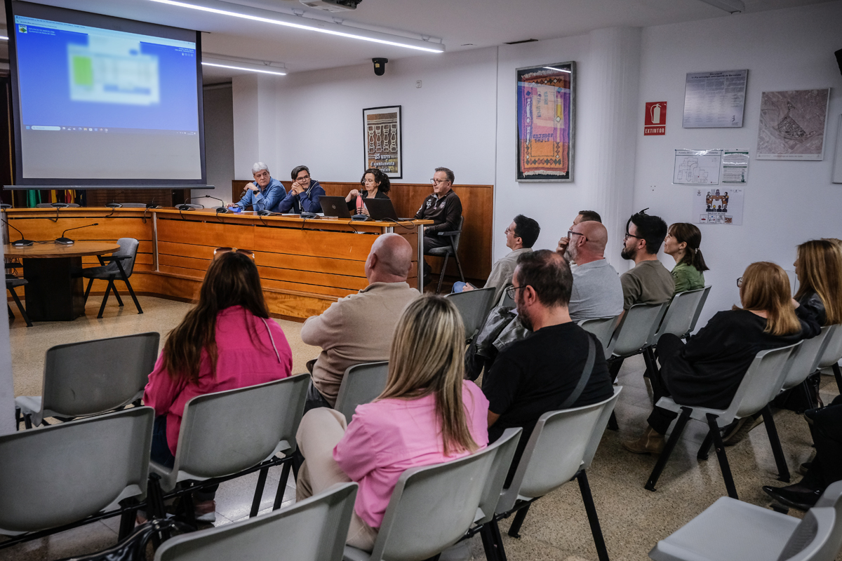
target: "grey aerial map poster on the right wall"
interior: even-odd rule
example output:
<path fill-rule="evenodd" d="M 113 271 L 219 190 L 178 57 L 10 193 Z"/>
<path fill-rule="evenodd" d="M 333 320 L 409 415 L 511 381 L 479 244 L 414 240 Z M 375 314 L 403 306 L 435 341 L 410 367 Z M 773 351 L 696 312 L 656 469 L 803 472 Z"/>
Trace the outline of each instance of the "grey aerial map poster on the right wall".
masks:
<path fill-rule="evenodd" d="M 764 92 L 758 160 L 821 160 L 830 89 Z"/>

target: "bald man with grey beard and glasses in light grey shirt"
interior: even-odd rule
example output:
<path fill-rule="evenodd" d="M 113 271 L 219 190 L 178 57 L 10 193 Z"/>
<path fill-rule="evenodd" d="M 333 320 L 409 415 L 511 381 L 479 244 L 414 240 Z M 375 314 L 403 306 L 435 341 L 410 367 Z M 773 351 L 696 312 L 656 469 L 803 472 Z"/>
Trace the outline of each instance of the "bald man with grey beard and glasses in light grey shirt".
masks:
<path fill-rule="evenodd" d="M 605 260 L 608 230 L 596 221 L 582 221 L 568 231 L 568 244 L 563 251 L 573 273 L 570 295 L 570 319 L 603 318 L 623 312 L 623 288 L 620 276 Z"/>

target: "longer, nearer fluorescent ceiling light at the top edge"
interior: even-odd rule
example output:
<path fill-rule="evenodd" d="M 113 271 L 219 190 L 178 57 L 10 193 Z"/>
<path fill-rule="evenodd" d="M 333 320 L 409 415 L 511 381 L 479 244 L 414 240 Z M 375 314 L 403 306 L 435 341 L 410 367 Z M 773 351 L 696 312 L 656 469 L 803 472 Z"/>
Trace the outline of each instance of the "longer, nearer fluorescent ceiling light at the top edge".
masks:
<path fill-rule="evenodd" d="M 307 29 L 309 31 L 317 31 L 318 33 L 337 35 L 339 37 L 349 37 L 350 39 L 370 41 L 372 43 L 380 43 L 381 45 L 393 45 L 396 47 L 404 47 L 406 49 L 424 50 L 430 53 L 441 53 L 445 51 L 445 45 L 440 45 L 438 43 L 409 39 L 399 35 L 378 33 L 367 29 L 349 28 L 347 25 L 332 24 L 319 19 L 309 19 L 302 18 L 301 16 L 291 16 L 285 13 L 269 12 L 269 10 L 249 8 L 248 6 L 238 6 L 237 12 L 233 12 L 228 8 L 231 6 L 230 3 L 220 2 L 219 0 L 196 0 L 193 3 L 179 2 L 178 0 L 150 1 L 168 4 L 170 6 L 178 6 L 179 8 L 200 10 L 201 12 L 217 13 L 219 15 L 231 16 L 232 18 L 249 19 L 251 21 L 262 22 L 264 24 L 284 25 L 286 27 L 293 27 L 296 29 Z M 351 32 L 350 29 L 354 29 L 354 31 Z"/>

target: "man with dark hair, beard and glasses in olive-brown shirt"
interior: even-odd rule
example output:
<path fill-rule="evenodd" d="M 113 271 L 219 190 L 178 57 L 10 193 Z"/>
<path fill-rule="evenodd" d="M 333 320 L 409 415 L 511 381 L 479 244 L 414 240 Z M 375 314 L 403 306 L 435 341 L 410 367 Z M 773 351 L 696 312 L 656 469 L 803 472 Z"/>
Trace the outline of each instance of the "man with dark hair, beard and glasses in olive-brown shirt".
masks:
<path fill-rule="evenodd" d="M 623 310 L 634 304 L 662 304 L 675 293 L 675 281 L 667 267 L 658 261 L 658 250 L 667 236 L 667 223 L 660 216 L 641 210 L 626 221 L 626 236 L 620 257 L 635 266 L 620 275 Z"/>

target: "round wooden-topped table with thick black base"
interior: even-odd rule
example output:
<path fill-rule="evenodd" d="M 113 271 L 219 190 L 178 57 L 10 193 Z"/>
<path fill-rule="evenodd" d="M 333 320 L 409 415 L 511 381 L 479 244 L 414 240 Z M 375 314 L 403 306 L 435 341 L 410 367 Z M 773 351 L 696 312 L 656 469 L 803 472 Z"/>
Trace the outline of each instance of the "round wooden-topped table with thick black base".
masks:
<path fill-rule="evenodd" d="M 24 263 L 26 313 L 33 321 L 70 321 L 85 313 L 82 257 L 114 253 L 115 241 L 77 241 L 70 246 L 35 242 L 3 246 L 3 255 Z"/>

